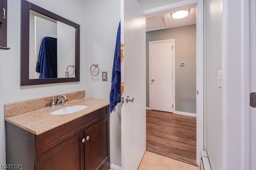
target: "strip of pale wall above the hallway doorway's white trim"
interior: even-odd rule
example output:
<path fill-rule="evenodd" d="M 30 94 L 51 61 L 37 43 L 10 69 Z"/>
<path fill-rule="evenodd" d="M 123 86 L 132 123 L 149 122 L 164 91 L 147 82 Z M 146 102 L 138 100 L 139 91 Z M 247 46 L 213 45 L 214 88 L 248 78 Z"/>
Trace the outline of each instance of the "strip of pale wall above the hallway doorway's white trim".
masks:
<path fill-rule="evenodd" d="M 150 8 L 156 8 L 158 6 L 172 4 L 174 2 L 179 2 L 182 0 L 138 0 L 143 10 L 148 10 Z"/>

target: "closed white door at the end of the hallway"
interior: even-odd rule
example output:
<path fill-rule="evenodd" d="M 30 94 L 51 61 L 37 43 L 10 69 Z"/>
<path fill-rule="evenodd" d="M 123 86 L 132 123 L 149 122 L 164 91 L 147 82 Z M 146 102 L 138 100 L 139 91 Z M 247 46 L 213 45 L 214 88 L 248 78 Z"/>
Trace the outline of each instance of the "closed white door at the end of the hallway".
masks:
<path fill-rule="evenodd" d="M 151 109 L 172 112 L 172 40 L 150 42 Z"/>

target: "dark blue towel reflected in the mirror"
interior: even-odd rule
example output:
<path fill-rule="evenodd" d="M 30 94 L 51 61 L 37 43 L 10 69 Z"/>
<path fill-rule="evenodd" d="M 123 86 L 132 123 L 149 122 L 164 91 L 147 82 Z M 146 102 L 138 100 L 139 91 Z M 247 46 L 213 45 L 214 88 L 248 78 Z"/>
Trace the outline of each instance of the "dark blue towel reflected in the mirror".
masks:
<path fill-rule="evenodd" d="M 38 54 L 36 72 L 39 78 L 57 78 L 57 39 L 44 37 Z"/>

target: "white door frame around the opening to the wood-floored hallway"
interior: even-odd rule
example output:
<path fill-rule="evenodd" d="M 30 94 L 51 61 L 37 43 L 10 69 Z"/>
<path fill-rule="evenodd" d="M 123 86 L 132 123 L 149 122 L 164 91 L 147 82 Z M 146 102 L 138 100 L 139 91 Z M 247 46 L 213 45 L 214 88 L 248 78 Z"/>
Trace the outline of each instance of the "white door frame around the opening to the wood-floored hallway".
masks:
<path fill-rule="evenodd" d="M 166 14 L 171 10 L 196 7 L 196 162 L 204 150 L 204 0 L 183 0 L 144 10 L 146 16 Z"/>

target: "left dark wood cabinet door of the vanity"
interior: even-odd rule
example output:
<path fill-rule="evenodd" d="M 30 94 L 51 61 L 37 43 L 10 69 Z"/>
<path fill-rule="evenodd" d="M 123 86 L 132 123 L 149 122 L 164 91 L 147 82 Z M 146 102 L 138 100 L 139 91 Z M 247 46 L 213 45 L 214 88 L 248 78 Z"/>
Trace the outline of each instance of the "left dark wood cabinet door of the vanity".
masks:
<path fill-rule="evenodd" d="M 36 170 L 84 170 L 84 131 L 36 158 Z"/>

